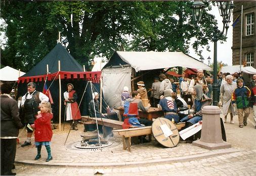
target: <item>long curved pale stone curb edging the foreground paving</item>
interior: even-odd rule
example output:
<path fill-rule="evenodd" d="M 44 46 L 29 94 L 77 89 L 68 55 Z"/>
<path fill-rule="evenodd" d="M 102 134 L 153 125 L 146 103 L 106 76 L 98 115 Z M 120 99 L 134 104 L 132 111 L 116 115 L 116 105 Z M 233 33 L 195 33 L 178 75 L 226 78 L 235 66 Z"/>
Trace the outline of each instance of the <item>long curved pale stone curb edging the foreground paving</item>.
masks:
<path fill-rule="evenodd" d="M 210 158 L 214 156 L 219 156 L 223 154 L 229 154 L 229 153 L 235 153 L 240 152 L 243 150 L 229 148 L 229 149 L 220 149 L 220 150 L 212 150 L 207 153 L 201 153 L 196 155 L 188 155 L 188 156 L 181 156 L 181 157 L 174 157 L 174 158 L 162 158 L 162 159 L 153 159 L 153 160 L 145 160 L 145 161 L 126 161 L 126 162 L 93 162 L 93 163 L 83 163 L 83 162 L 63 162 L 58 160 L 52 160 L 50 162 L 40 162 L 34 161 L 34 160 L 20 160 L 15 161 L 15 163 L 21 163 L 21 164 L 28 164 L 28 165 L 42 165 L 42 166 L 88 166 L 88 167 L 97 167 L 97 166 L 134 166 L 138 164 L 158 164 L 158 163 L 169 163 L 169 162 L 186 162 L 186 161 L 192 161 L 195 159 L 205 159 Z"/>

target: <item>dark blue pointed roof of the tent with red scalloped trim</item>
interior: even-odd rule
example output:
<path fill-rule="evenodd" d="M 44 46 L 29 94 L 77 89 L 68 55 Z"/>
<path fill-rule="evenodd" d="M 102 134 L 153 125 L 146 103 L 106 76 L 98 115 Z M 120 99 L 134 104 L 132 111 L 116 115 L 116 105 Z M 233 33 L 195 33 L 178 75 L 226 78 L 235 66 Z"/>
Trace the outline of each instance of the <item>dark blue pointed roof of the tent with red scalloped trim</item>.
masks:
<path fill-rule="evenodd" d="M 74 57 L 66 50 L 61 43 L 57 45 L 30 71 L 28 71 L 22 77 L 38 76 L 47 74 L 47 65 L 49 66 L 49 72 L 55 73 L 59 71 L 72 71 L 72 72 L 83 72 L 83 68 L 77 61 L 74 60 Z"/>

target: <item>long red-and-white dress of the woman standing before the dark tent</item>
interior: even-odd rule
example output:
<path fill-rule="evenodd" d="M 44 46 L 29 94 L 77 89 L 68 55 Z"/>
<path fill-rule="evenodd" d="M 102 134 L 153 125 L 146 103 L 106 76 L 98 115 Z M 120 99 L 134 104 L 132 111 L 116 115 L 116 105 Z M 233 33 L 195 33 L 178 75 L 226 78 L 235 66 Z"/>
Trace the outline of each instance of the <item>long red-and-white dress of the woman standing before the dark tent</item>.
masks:
<path fill-rule="evenodd" d="M 71 90 L 70 92 L 68 91 L 64 92 L 64 98 L 65 100 L 70 101 L 70 102 L 66 102 L 67 103 L 66 121 L 81 119 L 80 110 L 76 102 L 77 94 L 75 90 Z"/>

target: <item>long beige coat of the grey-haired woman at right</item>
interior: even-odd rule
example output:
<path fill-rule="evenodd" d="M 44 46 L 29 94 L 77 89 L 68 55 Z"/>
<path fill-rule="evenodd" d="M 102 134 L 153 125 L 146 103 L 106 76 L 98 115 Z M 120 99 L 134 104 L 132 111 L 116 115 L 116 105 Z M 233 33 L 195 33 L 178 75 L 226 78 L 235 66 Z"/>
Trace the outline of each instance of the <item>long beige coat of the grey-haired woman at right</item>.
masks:
<path fill-rule="evenodd" d="M 221 86 L 221 101 L 223 102 L 223 115 L 231 113 L 234 115 L 237 114 L 236 108 L 231 105 L 231 95 L 235 88 L 237 87 L 236 83 L 232 81 L 231 84 L 225 83 Z"/>

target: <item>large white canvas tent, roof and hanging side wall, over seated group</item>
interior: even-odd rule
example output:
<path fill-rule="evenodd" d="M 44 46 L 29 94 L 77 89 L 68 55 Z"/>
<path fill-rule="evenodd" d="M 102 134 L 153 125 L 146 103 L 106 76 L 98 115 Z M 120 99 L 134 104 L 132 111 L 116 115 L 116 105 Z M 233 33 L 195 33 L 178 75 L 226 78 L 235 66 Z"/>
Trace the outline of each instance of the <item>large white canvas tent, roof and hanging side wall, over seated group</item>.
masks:
<path fill-rule="evenodd" d="M 102 69 L 103 94 L 110 107 L 121 105 L 121 92 L 127 86 L 131 92 L 132 69 L 145 70 L 186 67 L 211 70 L 209 66 L 183 52 L 115 51 Z"/>

